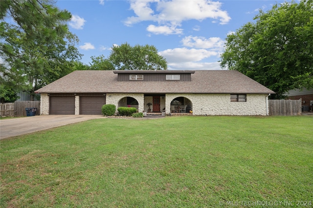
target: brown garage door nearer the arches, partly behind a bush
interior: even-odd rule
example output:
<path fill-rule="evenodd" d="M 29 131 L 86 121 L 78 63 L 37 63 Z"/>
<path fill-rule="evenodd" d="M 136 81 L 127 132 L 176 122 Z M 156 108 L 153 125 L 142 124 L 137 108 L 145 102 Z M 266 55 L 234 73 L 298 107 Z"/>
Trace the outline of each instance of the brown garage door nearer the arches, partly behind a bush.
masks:
<path fill-rule="evenodd" d="M 102 97 L 79 97 L 80 113 L 82 115 L 101 115 L 102 105 L 106 104 L 106 99 Z"/>

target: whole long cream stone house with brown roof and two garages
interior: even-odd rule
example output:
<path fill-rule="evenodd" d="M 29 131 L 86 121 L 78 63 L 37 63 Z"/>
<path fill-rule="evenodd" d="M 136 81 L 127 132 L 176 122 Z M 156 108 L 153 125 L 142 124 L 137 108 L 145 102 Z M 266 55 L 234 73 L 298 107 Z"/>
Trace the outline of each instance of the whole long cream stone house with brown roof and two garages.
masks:
<path fill-rule="evenodd" d="M 43 115 L 101 114 L 114 104 L 147 114 L 266 116 L 274 92 L 233 70 L 117 70 L 74 71 L 36 93 Z"/>

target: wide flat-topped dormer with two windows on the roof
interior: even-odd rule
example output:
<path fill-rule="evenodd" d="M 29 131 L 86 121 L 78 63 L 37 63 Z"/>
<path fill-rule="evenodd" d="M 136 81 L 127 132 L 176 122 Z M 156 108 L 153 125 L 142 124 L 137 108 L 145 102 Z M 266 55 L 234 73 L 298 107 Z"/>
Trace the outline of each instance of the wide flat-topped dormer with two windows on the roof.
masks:
<path fill-rule="evenodd" d="M 191 74 L 195 71 L 174 71 L 174 70 L 118 70 L 113 71 L 117 74 L 117 81 L 191 81 Z"/>

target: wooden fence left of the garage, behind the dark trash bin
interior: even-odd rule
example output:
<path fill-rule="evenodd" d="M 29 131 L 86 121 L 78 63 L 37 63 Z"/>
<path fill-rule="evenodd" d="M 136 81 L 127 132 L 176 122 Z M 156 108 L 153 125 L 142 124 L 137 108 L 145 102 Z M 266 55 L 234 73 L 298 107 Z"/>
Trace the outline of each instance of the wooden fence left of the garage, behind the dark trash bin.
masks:
<path fill-rule="evenodd" d="M 37 108 L 36 115 L 40 114 L 40 101 L 16 101 L 15 103 L 0 104 L 1 116 L 26 116 L 25 108 Z"/>

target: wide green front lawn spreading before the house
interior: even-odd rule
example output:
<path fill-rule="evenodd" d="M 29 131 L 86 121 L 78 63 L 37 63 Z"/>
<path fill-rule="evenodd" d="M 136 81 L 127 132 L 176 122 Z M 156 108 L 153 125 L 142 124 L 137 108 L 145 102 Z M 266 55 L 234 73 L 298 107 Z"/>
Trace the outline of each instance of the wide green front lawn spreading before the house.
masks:
<path fill-rule="evenodd" d="M 312 205 L 312 121 L 108 118 L 1 140 L 0 207 Z"/>

